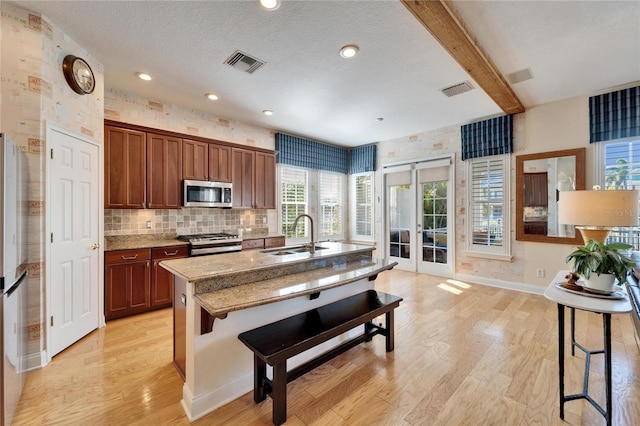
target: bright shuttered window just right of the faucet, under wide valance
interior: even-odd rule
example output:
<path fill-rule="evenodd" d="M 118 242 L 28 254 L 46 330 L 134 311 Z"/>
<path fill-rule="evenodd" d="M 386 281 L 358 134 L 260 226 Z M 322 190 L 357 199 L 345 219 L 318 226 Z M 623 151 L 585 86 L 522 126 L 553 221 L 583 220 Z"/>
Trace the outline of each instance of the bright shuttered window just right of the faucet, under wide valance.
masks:
<path fill-rule="evenodd" d="M 344 175 L 318 172 L 320 237 L 342 238 L 344 233 Z"/>

